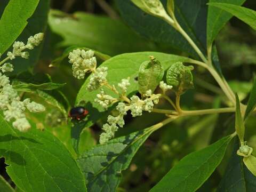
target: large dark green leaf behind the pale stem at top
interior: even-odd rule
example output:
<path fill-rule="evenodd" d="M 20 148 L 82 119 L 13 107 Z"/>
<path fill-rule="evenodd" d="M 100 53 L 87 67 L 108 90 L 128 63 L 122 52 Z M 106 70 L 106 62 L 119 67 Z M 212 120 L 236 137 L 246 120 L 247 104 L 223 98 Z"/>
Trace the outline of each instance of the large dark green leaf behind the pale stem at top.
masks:
<path fill-rule="evenodd" d="M 168 23 L 146 14 L 131 1 L 115 0 L 115 2 L 122 18 L 140 35 L 197 57 L 186 39 Z M 206 49 L 207 2 L 207 0 L 175 1 L 175 17 L 203 53 Z M 166 5 L 165 0 L 162 3 Z"/>

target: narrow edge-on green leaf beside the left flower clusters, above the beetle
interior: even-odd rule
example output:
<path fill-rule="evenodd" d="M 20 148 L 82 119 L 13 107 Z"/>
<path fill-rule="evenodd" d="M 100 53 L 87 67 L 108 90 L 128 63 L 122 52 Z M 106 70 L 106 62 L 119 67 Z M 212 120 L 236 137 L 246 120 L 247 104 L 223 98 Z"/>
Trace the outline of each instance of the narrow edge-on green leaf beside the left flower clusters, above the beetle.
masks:
<path fill-rule="evenodd" d="M 65 86 L 66 83 L 43 83 L 43 84 L 33 84 L 33 83 L 23 83 L 23 82 L 17 82 L 17 84 L 13 85 L 13 88 L 17 91 L 23 91 L 23 92 L 31 92 L 36 90 L 54 90 L 59 89 L 62 86 Z"/>

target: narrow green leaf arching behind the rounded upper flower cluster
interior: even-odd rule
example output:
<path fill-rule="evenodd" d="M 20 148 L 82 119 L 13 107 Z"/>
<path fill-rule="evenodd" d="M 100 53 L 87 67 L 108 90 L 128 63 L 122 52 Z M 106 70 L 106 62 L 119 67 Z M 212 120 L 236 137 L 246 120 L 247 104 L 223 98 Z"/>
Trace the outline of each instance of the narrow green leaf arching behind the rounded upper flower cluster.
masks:
<path fill-rule="evenodd" d="M 78 46 L 70 46 L 67 47 L 67 49 L 65 49 L 62 53 L 62 55 L 60 57 L 58 57 L 57 59 L 54 59 L 51 64 L 49 65 L 49 67 L 58 67 L 60 65 L 60 63 L 63 61 L 63 59 L 67 58 L 69 55 L 69 52 L 73 51 L 74 49 L 83 49 L 85 51 L 90 50 L 87 47 L 78 47 Z M 94 55 L 97 59 L 101 59 L 103 61 L 106 61 L 108 59 L 110 59 L 111 57 L 109 55 L 103 54 L 99 51 L 94 51 Z"/>

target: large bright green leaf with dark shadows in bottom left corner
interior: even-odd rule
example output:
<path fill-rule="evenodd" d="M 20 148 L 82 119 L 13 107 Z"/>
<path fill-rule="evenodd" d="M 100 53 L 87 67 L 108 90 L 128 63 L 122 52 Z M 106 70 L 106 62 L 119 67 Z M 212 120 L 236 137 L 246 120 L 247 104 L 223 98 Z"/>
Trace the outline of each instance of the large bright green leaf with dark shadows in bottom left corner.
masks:
<path fill-rule="evenodd" d="M 26 192 L 86 191 L 85 180 L 63 144 L 48 131 L 21 133 L 0 116 L 0 156 L 15 185 Z"/>

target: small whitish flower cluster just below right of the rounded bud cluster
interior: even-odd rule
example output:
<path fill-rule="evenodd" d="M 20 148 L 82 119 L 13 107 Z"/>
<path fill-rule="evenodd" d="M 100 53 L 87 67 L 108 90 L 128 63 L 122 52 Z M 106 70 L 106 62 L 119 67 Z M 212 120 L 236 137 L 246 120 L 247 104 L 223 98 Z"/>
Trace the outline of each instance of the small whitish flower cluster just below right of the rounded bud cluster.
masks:
<path fill-rule="evenodd" d="M 87 85 L 88 91 L 99 89 L 104 83 L 107 82 L 108 68 L 98 67 L 90 77 L 90 82 Z"/>

